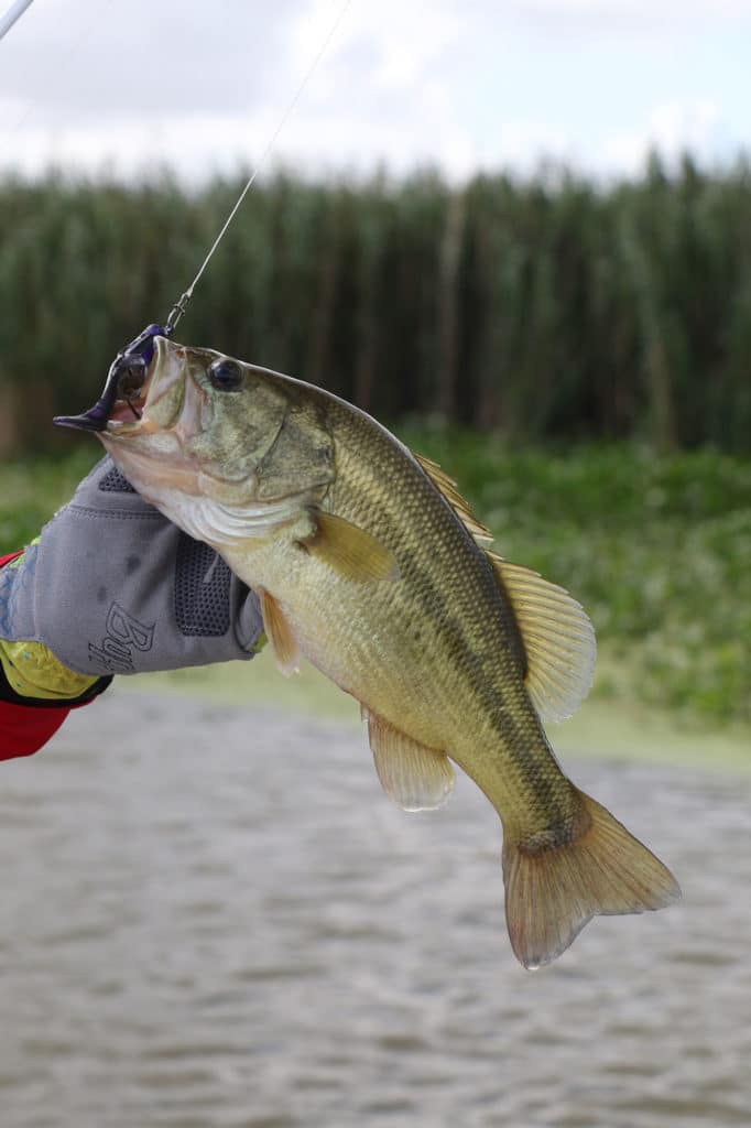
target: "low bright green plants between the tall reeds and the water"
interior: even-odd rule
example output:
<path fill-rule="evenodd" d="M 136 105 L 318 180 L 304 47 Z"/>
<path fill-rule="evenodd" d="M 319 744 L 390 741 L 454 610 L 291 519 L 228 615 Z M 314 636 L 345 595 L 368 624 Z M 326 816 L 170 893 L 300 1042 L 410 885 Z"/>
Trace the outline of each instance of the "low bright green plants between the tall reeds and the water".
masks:
<path fill-rule="evenodd" d="M 458 479 L 502 555 L 584 603 L 602 705 L 636 699 L 691 721 L 751 721 L 749 459 L 634 444 L 513 449 L 493 435 L 396 430 Z M 0 550 L 37 532 L 96 447 L 0 469 Z"/>

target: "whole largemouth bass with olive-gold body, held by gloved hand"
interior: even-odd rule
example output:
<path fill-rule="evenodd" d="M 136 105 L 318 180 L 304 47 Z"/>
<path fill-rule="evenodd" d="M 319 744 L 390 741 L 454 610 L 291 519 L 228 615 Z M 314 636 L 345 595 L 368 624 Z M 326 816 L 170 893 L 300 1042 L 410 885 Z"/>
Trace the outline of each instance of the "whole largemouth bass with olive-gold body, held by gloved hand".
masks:
<path fill-rule="evenodd" d="M 131 381 L 132 382 L 132 381 Z M 597 915 L 680 897 L 670 870 L 564 773 L 544 721 L 592 682 L 582 606 L 502 557 L 456 482 L 337 396 L 156 338 L 106 450 L 258 596 L 283 673 L 302 658 L 360 702 L 378 777 L 442 807 L 453 765 L 503 826 L 511 946 L 528 969 Z"/>

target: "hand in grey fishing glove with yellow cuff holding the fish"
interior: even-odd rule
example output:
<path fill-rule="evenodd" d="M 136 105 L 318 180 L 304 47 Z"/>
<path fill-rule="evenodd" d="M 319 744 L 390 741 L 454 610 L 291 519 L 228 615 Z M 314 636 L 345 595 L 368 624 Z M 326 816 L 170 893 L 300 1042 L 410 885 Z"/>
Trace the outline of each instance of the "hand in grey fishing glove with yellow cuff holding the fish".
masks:
<path fill-rule="evenodd" d="M 250 589 L 109 458 L 0 569 L 0 660 L 14 699 L 79 698 L 113 673 L 251 658 L 262 632 Z"/>

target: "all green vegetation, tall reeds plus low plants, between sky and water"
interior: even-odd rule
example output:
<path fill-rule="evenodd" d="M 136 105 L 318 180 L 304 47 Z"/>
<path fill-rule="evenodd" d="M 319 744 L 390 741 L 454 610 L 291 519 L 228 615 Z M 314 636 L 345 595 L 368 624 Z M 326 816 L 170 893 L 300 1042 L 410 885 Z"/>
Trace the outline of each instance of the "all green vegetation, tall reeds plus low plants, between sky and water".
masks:
<path fill-rule="evenodd" d="M 238 187 L 0 183 L 0 455 L 21 459 L 0 468 L 0 550 L 97 457 L 52 415 L 87 407 L 116 349 L 166 316 Z M 586 606 L 600 706 L 748 725 L 750 214 L 743 162 L 654 159 L 608 187 L 281 175 L 179 338 L 401 420 L 498 550 Z"/>

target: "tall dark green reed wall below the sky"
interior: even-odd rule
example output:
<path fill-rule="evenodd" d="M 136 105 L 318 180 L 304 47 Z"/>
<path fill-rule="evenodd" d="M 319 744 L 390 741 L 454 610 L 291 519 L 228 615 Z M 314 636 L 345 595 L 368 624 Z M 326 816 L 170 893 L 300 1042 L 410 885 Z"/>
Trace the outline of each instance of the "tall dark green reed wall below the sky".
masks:
<path fill-rule="evenodd" d="M 0 184 L 0 451 L 67 449 L 116 349 L 166 317 L 238 190 Z M 515 441 L 751 449 L 751 168 L 639 182 L 254 188 L 179 337 L 377 416 Z"/>

